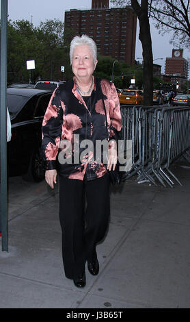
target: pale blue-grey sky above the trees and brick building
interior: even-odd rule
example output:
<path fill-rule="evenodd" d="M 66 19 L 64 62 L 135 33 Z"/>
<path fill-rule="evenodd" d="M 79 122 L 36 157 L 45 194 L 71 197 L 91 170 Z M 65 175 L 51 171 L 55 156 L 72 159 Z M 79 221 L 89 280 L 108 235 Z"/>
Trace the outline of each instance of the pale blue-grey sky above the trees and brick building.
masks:
<path fill-rule="evenodd" d="M 91 4 L 91 0 L 8 0 L 8 18 L 12 21 L 25 19 L 32 22 L 35 26 L 38 26 L 40 21 L 44 22 L 46 19 L 53 18 L 59 18 L 64 22 L 65 10 L 90 10 Z M 113 7 L 113 4 L 110 3 L 109 8 L 111 7 Z M 150 21 L 150 30 L 152 34 L 153 60 L 155 64 L 160 64 L 162 66 L 161 72 L 164 73 L 165 58 L 172 57 L 173 46 L 169 44 L 172 33 L 168 32 L 165 36 L 161 36 L 154 27 L 152 21 Z M 141 62 L 141 59 L 137 59 L 142 58 L 142 47 L 138 34 L 139 23 L 137 20 L 135 59 Z M 183 51 L 183 57 L 190 59 L 190 49 L 185 49 Z M 158 58 L 163 58 L 163 60 Z"/>

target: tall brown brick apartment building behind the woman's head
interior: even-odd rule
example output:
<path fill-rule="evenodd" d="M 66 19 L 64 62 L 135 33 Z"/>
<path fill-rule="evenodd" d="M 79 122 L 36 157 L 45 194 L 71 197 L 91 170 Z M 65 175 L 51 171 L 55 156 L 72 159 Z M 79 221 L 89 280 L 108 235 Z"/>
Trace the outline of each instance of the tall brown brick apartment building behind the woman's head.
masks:
<path fill-rule="evenodd" d="M 109 9 L 109 0 L 92 0 L 91 10 L 65 12 L 65 28 L 79 36 L 87 34 L 96 42 L 98 53 L 129 65 L 135 64 L 136 27 L 133 9 Z"/>

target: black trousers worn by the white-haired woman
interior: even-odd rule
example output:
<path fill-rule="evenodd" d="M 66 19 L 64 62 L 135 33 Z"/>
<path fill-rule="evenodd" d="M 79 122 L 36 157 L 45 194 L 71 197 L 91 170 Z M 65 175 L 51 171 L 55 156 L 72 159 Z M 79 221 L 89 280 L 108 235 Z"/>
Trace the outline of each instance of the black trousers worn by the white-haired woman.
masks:
<path fill-rule="evenodd" d="M 109 222 L 109 176 L 83 181 L 59 175 L 59 219 L 66 277 L 74 279 L 96 259 Z"/>

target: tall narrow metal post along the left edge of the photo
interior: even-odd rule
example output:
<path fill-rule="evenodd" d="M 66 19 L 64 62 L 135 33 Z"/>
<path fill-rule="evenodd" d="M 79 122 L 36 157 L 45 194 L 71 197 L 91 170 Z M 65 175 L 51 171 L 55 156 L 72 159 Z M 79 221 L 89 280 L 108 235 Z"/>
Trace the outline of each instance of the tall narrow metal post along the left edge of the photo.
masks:
<path fill-rule="evenodd" d="M 1 234 L 2 251 L 8 251 L 8 182 L 7 182 L 7 56 L 8 56 L 8 0 L 1 0 Z"/>

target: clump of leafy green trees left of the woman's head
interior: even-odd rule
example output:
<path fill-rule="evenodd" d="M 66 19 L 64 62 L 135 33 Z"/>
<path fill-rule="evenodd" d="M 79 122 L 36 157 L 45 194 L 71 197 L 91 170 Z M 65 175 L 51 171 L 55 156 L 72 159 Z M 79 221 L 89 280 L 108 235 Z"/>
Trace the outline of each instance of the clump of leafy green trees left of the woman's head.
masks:
<path fill-rule="evenodd" d="M 28 82 L 27 60 L 35 60 L 31 70 L 32 81 L 59 80 L 71 76 L 69 43 L 64 24 L 59 19 L 49 20 L 33 27 L 29 21 L 8 22 L 8 83 Z M 72 32 L 70 32 L 72 36 Z M 65 66 L 65 73 L 61 72 Z"/>

